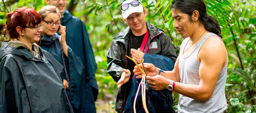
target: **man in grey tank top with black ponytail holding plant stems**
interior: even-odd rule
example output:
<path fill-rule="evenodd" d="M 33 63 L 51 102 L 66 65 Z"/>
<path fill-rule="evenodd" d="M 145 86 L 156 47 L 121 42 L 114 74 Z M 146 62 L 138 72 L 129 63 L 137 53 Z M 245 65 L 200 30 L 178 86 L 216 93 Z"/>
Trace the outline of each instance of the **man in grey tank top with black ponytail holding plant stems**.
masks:
<path fill-rule="evenodd" d="M 207 15 L 202 0 L 173 0 L 174 28 L 185 40 L 174 70 L 165 73 L 144 63 L 147 83 L 154 90 L 179 93 L 179 113 L 221 113 L 226 109 L 228 57 L 218 21 Z M 142 73 L 135 66 L 136 78 Z"/>

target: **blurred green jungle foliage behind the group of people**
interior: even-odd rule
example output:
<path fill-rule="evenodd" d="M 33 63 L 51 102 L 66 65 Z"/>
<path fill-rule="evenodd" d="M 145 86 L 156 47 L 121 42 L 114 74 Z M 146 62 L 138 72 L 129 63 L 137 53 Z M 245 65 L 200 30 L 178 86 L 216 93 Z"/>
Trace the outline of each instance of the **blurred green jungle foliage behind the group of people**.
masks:
<path fill-rule="evenodd" d="M 106 52 L 113 37 L 124 28 L 120 6 L 123 0 L 68 0 L 67 9 L 85 24 L 98 65 L 96 78 L 99 86 L 96 108 L 98 113 L 113 113 L 116 82 L 107 73 Z M 172 0 L 142 0 L 147 8 L 146 20 L 165 30 L 176 47 L 177 54 L 183 41 L 172 27 L 170 3 Z M 44 0 L 1 0 L 0 41 L 9 40 L 6 14 L 18 7 L 39 11 Z M 218 19 L 223 41 L 228 51 L 228 78 L 226 81 L 225 113 L 256 113 L 256 1 L 204 0 L 208 14 Z M 67 37 L 68 38 L 68 37 Z M 174 93 L 177 110 L 178 94 Z"/>

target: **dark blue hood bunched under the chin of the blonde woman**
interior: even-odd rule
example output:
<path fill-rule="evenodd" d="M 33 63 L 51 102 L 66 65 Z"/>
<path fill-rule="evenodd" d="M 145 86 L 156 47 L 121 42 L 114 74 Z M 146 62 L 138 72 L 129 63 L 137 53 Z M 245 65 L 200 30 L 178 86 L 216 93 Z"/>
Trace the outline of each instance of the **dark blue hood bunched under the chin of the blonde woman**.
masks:
<path fill-rule="evenodd" d="M 49 47 L 52 43 L 54 43 L 59 38 L 60 38 L 60 35 L 58 35 L 57 32 L 50 37 L 42 35 L 41 45 Z"/>

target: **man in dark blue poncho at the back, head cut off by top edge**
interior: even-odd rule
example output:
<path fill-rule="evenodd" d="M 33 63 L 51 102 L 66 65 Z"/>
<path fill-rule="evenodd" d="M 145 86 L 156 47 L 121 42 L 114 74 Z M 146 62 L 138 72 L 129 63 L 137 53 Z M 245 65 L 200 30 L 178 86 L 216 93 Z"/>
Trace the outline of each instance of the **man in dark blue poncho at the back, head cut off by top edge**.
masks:
<path fill-rule="evenodd" d="M 45 0 L 47 5 L 56 6 L 62 14 L 60 22 L 66 26 L 66 44 L 81 58 L 85 67 L 82 82 L 81 113 L 96 113 L 95 101 L 98 85 L 95 77 L 97 64 L 84 22 L 66 10 L 68 0 Z M 57 32 L 58 33 L 58 32 Z M 60 35 L 60 34 L 59 34 Z"/>

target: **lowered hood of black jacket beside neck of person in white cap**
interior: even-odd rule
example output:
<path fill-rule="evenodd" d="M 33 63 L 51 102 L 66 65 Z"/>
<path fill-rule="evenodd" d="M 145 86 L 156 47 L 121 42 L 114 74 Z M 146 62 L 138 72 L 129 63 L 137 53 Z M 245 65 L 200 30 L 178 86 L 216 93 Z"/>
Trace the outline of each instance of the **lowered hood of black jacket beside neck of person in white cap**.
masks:
<path fill-rule="evenodd" d="M 164 30 L 159 29 L 159 28 L 155 28 L 153 25 L 149 24 L 148 22 L 146 22 L 146 26 L 147 29 L 149 30 L 149 39 L 151 39 L 152 37 L 160 34 L 161 32 L 163 32 Z M 128 26 L 126 29 L 124 29 L 123 31 L 119 32 L 113 40 L 117 40 L 117 41 L 121 41 L 123 42 L 124 40 L 127 40 L 127 38 L 129 37 L 129 32 L 131 32 L 132 30 L 130 29 L 130 27 Z"/>

